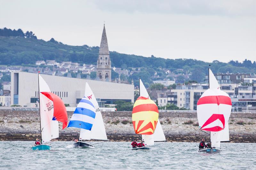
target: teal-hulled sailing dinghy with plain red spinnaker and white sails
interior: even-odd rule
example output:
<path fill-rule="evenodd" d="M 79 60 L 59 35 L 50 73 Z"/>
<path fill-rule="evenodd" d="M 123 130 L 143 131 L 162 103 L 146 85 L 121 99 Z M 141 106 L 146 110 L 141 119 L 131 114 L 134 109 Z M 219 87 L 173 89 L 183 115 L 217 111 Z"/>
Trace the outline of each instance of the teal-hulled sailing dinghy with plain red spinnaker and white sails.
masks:
<path fill-rule="evenodd" d="M 67 127 L 68 114 L 63 101 L 59 96 L 53 94 L 38 73 L 39 91 L 39 112 L 41 144 L 32 146 L 32 150 L 50 150 L 51 145 L 47 144 L 52 139 L 59 137 L 59 122 L 62 122 L 62 129 Z"/>

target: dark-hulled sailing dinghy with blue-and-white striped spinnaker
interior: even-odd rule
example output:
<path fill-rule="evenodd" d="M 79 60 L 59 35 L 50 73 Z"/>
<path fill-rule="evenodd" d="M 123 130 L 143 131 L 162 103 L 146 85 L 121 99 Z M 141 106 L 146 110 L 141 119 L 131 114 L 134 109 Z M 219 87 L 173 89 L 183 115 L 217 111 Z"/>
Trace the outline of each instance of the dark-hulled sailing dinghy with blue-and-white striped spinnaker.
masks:
<path fill-rule="evenodd" d="M 92 144 L 83 142 L 83 140 L 108 141 L 100 107 L 87 82 L 84 97 L 78 103 L 68 123 L 69 127 L 80 129 L 79 141 L 74 143 L 75 147 L 93 147 Z"/>

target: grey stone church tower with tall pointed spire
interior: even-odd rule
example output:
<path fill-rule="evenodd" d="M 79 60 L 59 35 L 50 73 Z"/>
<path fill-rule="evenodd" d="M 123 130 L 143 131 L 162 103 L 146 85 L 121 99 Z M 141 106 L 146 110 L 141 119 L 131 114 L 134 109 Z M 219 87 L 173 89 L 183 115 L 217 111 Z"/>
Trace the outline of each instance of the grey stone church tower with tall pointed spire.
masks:
<path fill-rule="evenodd" d="M 105 24 L 100 42 L 99 58 L 97 61 L 97 77 L 100 78 L 101 81 L 111 82 L 111 61 L 109 57 Z"/>

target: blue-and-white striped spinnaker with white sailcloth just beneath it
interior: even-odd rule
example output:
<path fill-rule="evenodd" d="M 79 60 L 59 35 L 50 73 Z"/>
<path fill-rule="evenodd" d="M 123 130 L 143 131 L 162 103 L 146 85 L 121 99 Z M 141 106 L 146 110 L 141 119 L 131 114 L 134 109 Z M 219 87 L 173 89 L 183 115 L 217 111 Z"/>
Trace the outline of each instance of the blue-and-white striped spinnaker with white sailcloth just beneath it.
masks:
<path fill-rule="evenodd" d="M 91 129 L 95 120 L 95 116 L 96 111 L 94 105 L 87 97 L 83 97 L 78 103 L 76 110 L 74 111 L 69 121 L 68 127 L 80 128 L 80 140 L 90 140 Z M 87 135 L 82 135 L 82 133 L 86 133 Z M 81 135 L 86 137 L 81 137 Z"/>

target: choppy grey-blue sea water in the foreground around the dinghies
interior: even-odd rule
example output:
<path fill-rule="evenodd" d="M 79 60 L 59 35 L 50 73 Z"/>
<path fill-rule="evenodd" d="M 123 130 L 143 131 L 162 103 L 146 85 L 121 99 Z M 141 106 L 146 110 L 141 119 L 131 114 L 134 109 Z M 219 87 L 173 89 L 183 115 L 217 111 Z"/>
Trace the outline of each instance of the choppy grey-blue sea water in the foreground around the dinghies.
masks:
<path fill-rule="evenodd" d="M 32 151 L 32 145 L 1 141 L 0 169 L 256 169 L 256 143 L 222 143 L 220 154 L 198 153 L 198 143 L 188 142 L 166 142 L 149 151 L 132 151 L 131 142 L 83 149 L 58 141 L 50 151 Z"/>

